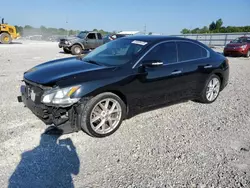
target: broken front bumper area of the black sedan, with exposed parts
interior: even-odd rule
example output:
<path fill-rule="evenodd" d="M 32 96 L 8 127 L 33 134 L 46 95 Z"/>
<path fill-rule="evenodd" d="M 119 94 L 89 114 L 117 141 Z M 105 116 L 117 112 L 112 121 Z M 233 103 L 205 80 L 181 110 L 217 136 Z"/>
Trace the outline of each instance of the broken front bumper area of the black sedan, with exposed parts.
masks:
<path fill-rule="evenodd" d="M 22 85 L 20 91 L 21 96 L 17 97 L 18 102 L 24 103 L 25 107 L 29 108 L 46 125 L 54 125 L 61 130 L 62 134 L 80 130 L 77 106 L 67 108 L 46 106 L 37 100 L 32 100 L 26 85 Z"/>

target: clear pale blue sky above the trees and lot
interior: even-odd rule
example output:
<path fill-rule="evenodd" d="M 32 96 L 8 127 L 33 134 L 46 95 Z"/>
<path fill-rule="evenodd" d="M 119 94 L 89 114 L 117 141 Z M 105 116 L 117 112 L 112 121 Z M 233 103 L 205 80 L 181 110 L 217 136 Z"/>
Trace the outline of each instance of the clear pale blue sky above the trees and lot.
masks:
<path fill-rule="evenodd" d="M 4 8 L 3 8 L 4 7 Z M 11 25 L 179 34 L 183 28 L 250 25 L 250 0 L 1 0 Z"/>

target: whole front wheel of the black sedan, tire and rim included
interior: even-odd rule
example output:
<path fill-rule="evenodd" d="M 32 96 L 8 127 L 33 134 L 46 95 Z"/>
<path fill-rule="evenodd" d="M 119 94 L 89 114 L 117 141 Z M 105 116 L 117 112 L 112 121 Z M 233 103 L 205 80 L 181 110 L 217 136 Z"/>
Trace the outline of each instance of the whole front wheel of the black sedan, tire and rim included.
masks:
<path fill-rule="evenodd" d="M 107 110 L 107 112 L 105 113 L 105 110 L 101 110 L 99 104 L 101 103 L 102 105 L 105 106 L 108 100 L 109 100 L 108 109 L 110 111 Z M 113 110 L 115 112 L 111 113 L 112 106 L 114 104 L 116 104 L 117 106 Z M 110 112 L 111 115 L 109 115 L 108 112 Z M 86 104 L 82 105 L 81 128 L 83 129 L 84 132 L 86 132 L 88 135 L 92 137 L 99 137 L 99 138 L 106 137 L 113 134 L 120 127 L 123 119 L 125 118 L 125 114 L 126 114 L 126 105 L 120 97 L 110 92 L 102 93 L 91 98 L 86 102 Z M 112 115 L 113 117 L 111 117 Z M 117 117 L 114 118 L 114 116 Z M 112 122 L 111 120 L 112 118 L 114 122 Z M 113 127 L 110 126 L 109 123 L 110 121 L 111 123 L 113 123 Z"/>

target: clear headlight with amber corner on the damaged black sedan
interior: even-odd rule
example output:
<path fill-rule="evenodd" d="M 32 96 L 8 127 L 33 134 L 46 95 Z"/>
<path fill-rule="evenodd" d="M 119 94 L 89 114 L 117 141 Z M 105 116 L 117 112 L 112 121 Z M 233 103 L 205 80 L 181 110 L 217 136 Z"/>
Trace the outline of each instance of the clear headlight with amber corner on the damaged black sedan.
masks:
<path fill-rule="evenodd" d="M 66 88 L 52 89 L 43 94 L 42 103 L 71 105 L 79 101 L 80 98 L 71 98 L 72 94 L 77 92 L 81 86 L 72 86 Z"/>

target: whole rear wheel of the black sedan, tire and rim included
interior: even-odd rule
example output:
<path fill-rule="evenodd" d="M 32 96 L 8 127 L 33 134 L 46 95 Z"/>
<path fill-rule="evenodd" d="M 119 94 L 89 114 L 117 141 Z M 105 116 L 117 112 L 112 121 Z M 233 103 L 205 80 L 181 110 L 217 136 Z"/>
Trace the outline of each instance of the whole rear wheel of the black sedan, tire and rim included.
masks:
<path fill-rule="evenodd" d="M 208 94 L 208 89 L 209 89 L 209 86 L 212 87 L 212 85 L 210 85 L 212 80 L 213 81 L 218 81 L 218 84 L 217 84 L 216 87 L 213 86 L 214 89 L 211 89 L 211 92 L 210 92 L 210 95 L 209 95 Z M 213 82 L 213 83 L 215 83 L 215 82 Z M 204 89 L 202 90 L 201 96 L 197 101 L 201 102 L 201 103 L 207 103 L 207 104 L 213 103 L 218 98 L 218 96 L 220 94 L 220 89 L 221 89 L 221 79 L 220 79 L 220 77 L 215 75 L 215 74 L 211 75 L 207 79 L 207 81 L 205 83 L 205 86 L 204 86 Z M 213 95 L 213 96 L 211 96 L 211 95 Z"/>

